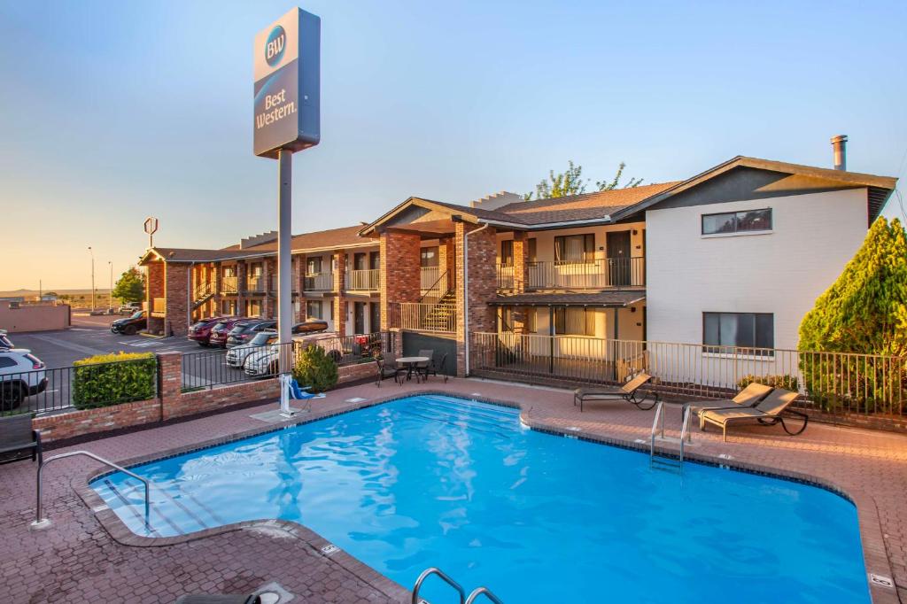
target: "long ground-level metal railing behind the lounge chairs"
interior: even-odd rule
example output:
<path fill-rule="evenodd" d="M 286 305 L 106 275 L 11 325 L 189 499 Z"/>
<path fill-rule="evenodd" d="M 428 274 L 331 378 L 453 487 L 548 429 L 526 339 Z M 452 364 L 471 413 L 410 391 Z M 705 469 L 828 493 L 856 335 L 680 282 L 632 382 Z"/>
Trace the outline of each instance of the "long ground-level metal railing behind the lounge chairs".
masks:
<path fill-rule="evenodd" d="M 829 414 L 902 416 L 907 357 L 588 336 L 471 334 L 473 373 L 619 384 L 645 370 L 658 388 L 692 397 L 733 396 L 751 382 L 798 392 L 797 405 Z"/>

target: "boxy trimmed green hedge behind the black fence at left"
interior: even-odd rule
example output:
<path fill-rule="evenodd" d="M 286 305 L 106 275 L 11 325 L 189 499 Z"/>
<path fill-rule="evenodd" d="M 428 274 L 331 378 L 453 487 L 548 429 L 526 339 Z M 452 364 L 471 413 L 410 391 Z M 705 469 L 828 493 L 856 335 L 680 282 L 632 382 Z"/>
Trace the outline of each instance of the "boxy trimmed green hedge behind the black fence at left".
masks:
<path fill-rule="evenodd" d="M 144 401 L 156 394 L 158 360 L 153 353 L 119 353 L 73 363 L 73 406 L 93 409 Z"/>

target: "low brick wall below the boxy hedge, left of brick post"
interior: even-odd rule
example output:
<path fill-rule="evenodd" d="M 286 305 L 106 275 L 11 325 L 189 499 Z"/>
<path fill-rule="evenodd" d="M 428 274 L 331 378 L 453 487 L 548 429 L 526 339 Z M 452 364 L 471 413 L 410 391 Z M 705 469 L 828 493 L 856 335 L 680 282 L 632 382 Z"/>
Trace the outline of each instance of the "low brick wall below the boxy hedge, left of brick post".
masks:
<path fill-rule="evenodd" d="M 73 436 L 109 432 L 161 420 L 161 401 L 151 398 L 135 403 L 113 404 L 97 409 L 83 409 L 68 414 L 45 415 L 32 420 L 34 430 L 41 431 L 44 442 L 60 441 Z"/>

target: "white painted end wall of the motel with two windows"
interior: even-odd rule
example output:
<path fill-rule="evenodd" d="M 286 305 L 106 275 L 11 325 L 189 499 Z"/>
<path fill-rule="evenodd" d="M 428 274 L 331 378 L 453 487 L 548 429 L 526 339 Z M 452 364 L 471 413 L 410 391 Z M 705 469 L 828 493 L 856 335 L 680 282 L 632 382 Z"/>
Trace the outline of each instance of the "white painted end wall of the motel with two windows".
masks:
<path fill-rule="evenodd" d="M 766 234 L 702 236 L 702 214 L 771 208 Z M 774 313 L 775 347 L 795 348 L 805 313 L 866 235 L 866 190 L 646 212 L 647 336 L 702 342 L 703 312 Z"/>

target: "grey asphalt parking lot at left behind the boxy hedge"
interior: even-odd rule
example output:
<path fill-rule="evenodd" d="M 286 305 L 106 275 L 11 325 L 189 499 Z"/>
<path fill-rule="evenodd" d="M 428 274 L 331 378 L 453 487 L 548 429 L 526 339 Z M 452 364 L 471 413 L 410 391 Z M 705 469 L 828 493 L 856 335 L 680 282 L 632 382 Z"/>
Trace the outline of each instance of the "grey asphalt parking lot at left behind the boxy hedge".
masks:
<path fill-rule="evenodd" d="M 183 388 L 197 389 L 210 385 L 244 382 L 242 369 L 229 367 L 222 348 L 206 348 L 185 337 L 122 336 L 112 334 L 110 324 L 120 317 L 73 316 L 73 326 L 59 331 L 10 334 L 17 348 L 28 348 L 46 364 L 44 374 L 48 385 L 43 393 L 27 396 L 17 409 L 6 411 L 54 413 L 72 405 L 73 371 L 75 361 L 111 353 L 189 354 L 183 363 Z"/>

